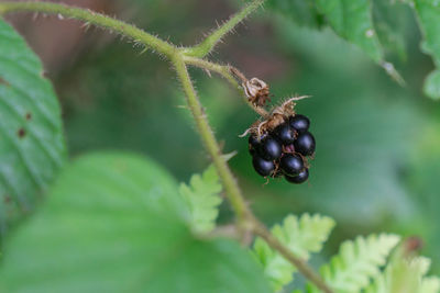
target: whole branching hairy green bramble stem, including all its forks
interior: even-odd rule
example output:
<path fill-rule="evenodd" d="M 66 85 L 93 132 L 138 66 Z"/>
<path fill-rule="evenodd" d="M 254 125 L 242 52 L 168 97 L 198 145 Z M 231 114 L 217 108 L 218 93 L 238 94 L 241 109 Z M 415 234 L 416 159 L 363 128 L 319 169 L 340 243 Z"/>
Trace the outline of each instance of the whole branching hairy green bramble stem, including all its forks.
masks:
<path fill-rule="evenodd" d="M 310 280 L 316 286 L 321 289 L 326 293 L 332 293 L 332 291 L 326 285 L 322 279 L 314 272 L 314 270 L 305 262 L 301 258 L 295 256 L 287 247 L 278 241 L 271 232 L 262 224 L 248 207 L 244 196 L 233 177 L 231 170 L 228 167 L 227 161 L 221 156 L 221 149 L 217 139 L 211 131 L 211 127 L 206 117 L 205 111 L 200 101 L 197 97 L 196 90 L 194 89 L 191 79 L 189 77 L 186 65 L 193 65 L 206 70 L 211 70 L 220 74 L 224 77 L 234 88 L 240 89 L 239 83 L 231 75 L 230 66 L 222 66 L 213 64 L 201 58 L 206 56 L 215 45 L 228 32 L 243 21 L 252 11 L 256 10 L 264 0 L 254 0 L 242 9 L 239 13 L 233 15 L 227 23 L 209 35 L 204 42 L 193 48 L 178 49 L 176 46 L 148 34 L 134 25 L 127 24 L 122 21 L 106 16 L 103 14 L 84 10 L 78 8 L 72 8 L 64 4 L 56 4 L 51 2 L 0 2 L 0 16 L 9 12 L 30 11 L 30 12 L 42 12 L 58 14 L 68 19 L 76 19 L 85 21 L 86 23 L 94 24 L 100 27 L 108 29 L 113 32 L 118 32 L 133 41 L 143 44 L 146 48 L 152 48 L 156 53 L 165 56 L 172 61 L 177 72 L 177 77 L 183 84 L 183 89 L 187 97 L 188 106 L 193 113 L 194 120 L 196 121 L 197 129 L 200 134 L 201 140 L 206 149 L 208 150 L 211 159 L 216 166 L 216 169 L 221 178 L 228 199 L 238 216 L 238 228 L 245 233 L 251 230 L 266 240 L 266 243 L 280 255 L 283 255 L 289 262 L 292 262 L 298 271 L 300 271 L 307 279 Z M 241 93 L 242 94 L 242 93 Z M 255 109 L 262 116 L 267 115 L 264 109 Z"/>

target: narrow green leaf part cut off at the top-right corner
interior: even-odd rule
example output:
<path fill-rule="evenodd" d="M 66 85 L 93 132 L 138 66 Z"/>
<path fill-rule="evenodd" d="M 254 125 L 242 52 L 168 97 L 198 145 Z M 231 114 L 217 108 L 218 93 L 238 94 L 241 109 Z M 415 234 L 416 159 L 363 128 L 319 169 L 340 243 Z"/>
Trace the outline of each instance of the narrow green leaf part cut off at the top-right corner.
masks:
<path fill-rule="evenodd" d="M 414 0 L 415 10 L 424 33 L 422 50 L 432 56 L 437 68 L 440 67 L 440 7 L 437 0 Z M 440 74 L 431 72 L 424 87 L 425 93 L 432 99 L 440 99 Z"/>

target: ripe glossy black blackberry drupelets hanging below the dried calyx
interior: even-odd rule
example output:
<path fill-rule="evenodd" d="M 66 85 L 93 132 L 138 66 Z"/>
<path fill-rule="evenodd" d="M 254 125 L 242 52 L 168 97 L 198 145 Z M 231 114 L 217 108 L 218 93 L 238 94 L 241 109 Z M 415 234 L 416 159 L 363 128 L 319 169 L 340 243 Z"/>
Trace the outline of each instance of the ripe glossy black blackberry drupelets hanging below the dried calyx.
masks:
<path fill-rule="evenodd" d="M 306 157 L 312 156 L 316 147 L 309 126 L 308 117 L 293 115 L 261 137 L 251 134 L 249 151 L 255 171 L 263 177 L 284 176 L 290 183 L 306 182 L 309 178 Z"/>

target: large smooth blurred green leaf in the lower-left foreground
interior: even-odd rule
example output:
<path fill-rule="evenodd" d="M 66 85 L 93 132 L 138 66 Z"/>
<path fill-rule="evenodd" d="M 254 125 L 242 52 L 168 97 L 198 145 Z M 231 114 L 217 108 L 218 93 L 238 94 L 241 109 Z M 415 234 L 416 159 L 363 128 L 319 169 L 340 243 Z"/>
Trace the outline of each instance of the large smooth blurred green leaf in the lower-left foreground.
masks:
<path fill-rule="evenodd" d="M 74 161 L 6 241 L 0 292 L 268 292 L 239 244 L 198 239 L 175 180 L 142 157 Z"/>

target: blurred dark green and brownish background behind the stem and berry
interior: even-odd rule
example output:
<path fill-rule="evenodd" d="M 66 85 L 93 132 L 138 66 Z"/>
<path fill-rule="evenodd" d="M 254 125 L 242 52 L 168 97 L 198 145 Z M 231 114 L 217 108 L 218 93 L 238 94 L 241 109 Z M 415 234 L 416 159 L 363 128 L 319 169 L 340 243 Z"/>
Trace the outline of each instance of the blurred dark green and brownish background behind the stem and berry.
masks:
<path fill-rule="evenodd" d="M 182 45 L 200 41 L 240 5 L 226 0 L 63 2 L 117 15 Z M 359 234 L 416 235 L 440 272 L 440 105 L 421 93 L 433 65 L 420 53 L 413 12 L 403 9 L 400 16 L 405 52 L 388 59 L 405 88 L 330 30 L 298 26 L 270 10 L 239 26 L 211 55 L 267 81 L 275 103 L 293 94 L 312 95 L 297 106 L 311 119 L 317 138 L 310 180 L 300 187 L 283 180 L 264 184 L 253 171 L 246 138 L 239 138 L 256 114 L 224 80 L 198 69 L 191 74 L 224 151 L 238 150 L 230 165 L 258 217 L 267 224 L 289 212 L 336 218 L 329 253 Z M 43 58 L 55 84 L 70 154 L 133 150 L 182 181 L 208 166 L 168 64 L 76 22 L 10 20 Z M 224 205 L 220 221 L 230 217 Z"/>

